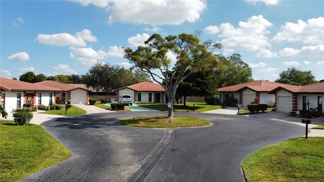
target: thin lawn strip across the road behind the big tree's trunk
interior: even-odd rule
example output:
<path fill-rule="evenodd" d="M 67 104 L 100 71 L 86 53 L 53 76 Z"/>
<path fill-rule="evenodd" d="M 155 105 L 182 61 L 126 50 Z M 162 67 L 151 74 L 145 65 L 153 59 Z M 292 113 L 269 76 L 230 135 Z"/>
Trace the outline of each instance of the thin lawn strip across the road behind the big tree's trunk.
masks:
<path fill-rule="evenodd" d="M 193 107 L 194 104 L 194 107 Z M 168 104 L 137 104 L 138 106 L 149 108 L 149 109 L 155 109 L 159 111 L 167 111 L 168 110 Z M 208 105 L 206 103 L 199 103 L 199 102 L 187 102 L 186 106 L 183 104 L 174 104 L 173 110 L 174 111 L 184 111 L 184 112 L 204 112 L 204 111 L 210 111 L 215 109 L 221 109 L 222 106 L 213 106 Z"/>

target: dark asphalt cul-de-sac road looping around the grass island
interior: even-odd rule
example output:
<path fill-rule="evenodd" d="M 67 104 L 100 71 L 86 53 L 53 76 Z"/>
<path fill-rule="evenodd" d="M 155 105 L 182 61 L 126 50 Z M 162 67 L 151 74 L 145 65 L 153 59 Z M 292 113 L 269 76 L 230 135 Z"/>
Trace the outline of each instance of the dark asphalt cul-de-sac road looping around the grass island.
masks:
<path fill-rule="evenodd" d="M 245 181 L 250 153 L 304 135 L 305 128 L 266 118 L 175 112 L 210 126 L 147 129 L 121 119 L 166 112 L 100 113 L 56 118 L 42 126 L 71 157 L 20 181 Z"/>

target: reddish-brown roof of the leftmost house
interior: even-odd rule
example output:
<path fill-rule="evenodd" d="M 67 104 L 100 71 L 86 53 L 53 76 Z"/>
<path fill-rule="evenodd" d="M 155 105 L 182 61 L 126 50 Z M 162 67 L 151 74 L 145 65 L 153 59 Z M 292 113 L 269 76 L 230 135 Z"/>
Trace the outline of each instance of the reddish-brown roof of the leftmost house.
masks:
<path fill-rule="evenodd" d="M 0 77 L 0 88 L 1 90 L 5 90 L 5 91 L 49 91 L 49 92 L 61 91 L 61 89 L 59 88 L 38 85 L 34 83 L 8 79 L 4 77 Z"/>

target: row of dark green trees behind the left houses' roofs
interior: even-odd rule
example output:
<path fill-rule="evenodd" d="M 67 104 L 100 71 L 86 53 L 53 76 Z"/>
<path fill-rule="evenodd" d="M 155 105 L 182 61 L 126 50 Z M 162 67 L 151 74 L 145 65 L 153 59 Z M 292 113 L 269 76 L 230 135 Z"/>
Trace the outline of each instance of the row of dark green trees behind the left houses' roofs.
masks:
<path fill-rule="evenodd" d="M 13 78 L 17 79 L 17 78 Z M 84 75 L 55 75 L 46 76 L 45 74 L 35 74 L 26 72 L 19 77 L 20 81 L 36 83 L 41 81 L 53 80 L 61 83 L 86 84 L 88 88 L 101 90 L 101 92 L 112 92 L 112 90 L 140 83 L 143 81 L 152 81 L 150 76 L 136 68 L 126 69 L 118 65 L 110 66 L 106 63 L 96 63 Z"/>

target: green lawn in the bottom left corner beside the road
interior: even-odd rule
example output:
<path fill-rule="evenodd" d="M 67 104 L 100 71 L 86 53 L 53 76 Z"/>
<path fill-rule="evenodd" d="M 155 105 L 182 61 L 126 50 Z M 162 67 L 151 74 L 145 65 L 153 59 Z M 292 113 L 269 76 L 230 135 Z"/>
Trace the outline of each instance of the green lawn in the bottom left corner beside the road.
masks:
<path fill-rule="evenodd" d="M 0 130 L 0 181 L 19 180 L 70 156 L 42 126 L 0 120 Z"/>

